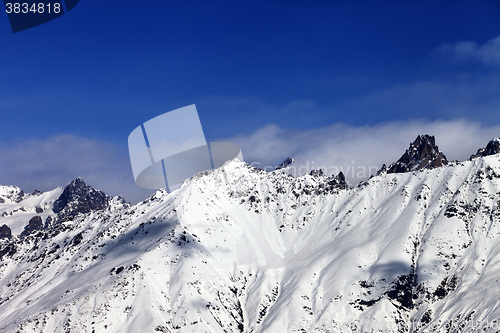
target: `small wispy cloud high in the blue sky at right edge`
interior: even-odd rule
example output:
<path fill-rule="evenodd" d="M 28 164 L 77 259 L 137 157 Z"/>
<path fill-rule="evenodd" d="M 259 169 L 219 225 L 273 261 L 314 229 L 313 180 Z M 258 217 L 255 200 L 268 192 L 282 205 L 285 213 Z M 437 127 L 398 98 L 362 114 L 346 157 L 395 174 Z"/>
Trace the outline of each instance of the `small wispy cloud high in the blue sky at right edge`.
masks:
<path fill-rule="evenodd" d="M 475 60 L 485 65 L 500 66 L 500 36 L 484 45 L 476 42 L 446 43 L 437 48 L 435 54 L 451 57 L 454 61 Z"/>

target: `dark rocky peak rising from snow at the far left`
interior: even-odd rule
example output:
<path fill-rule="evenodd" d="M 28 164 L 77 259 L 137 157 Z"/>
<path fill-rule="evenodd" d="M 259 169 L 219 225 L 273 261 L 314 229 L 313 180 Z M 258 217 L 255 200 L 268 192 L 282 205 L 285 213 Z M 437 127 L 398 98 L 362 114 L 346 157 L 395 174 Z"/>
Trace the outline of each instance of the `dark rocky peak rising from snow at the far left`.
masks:
<path fill-rule="evenodd" d="M 81 178 L 72 181 L 64 188 L 61 196 L 54 202 L 52 210 L 59 218 L 76 216 L 94 210 L 104 210 L 109 206 L 109 198 L 104 192 L 85 184 Z"/>

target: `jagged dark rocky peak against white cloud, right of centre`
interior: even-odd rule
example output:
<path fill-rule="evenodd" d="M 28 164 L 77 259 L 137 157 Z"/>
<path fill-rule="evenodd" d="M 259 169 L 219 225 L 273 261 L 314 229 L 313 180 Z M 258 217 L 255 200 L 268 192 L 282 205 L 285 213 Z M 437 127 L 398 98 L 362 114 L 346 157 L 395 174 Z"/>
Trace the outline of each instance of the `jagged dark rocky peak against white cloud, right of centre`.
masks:
<path fill-rule="evenodd" d="M 439 151 L 434 136 L 419 135 L 401 158 L 391 164 L 387 173 L 403 173 L 420 169 L 434 169 L 448 164 L 446 156 Z"/>

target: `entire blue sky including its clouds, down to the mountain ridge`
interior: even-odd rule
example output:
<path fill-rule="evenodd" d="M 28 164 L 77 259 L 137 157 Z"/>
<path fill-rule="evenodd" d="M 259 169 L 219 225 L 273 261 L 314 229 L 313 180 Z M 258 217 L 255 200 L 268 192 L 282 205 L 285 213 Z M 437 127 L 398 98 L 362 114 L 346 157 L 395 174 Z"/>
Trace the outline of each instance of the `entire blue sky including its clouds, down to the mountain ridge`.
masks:
<path fill-rule="evenodd" d="M 16 34 L 0 15 L 0 183 L 81 176 L 137 201 L 146 192 L 123 185 L 128 134 L 189 104 L 208 141 L 262 163 L 308 155 L 319 133 L 338 147 L 349 133 L 386 137 L 397 158 L 442 124 L 477 149 L 500 126 L 499 36 L 498 1 L 81 0 Z"/>

